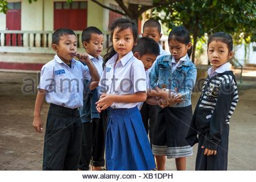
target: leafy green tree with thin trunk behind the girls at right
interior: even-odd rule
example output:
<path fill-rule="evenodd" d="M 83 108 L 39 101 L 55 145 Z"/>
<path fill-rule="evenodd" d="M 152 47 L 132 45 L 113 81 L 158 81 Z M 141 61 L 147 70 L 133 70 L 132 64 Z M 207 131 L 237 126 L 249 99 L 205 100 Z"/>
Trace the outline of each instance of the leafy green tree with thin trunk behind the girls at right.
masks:
<path fill-rule="evenodd" d="M 173 2 L 156 7 L 153 17 L 162 20 L 168 28 L 183 25 L 193 37 L 192 61 L 195 60 L 196 43 L 205 33 L 225 31 L 244 33 L 243 39 L 255 34 L 256 4 L 246 0 L 201 0 Z M 164 16 L 159 16 L 164 12 Z"/>

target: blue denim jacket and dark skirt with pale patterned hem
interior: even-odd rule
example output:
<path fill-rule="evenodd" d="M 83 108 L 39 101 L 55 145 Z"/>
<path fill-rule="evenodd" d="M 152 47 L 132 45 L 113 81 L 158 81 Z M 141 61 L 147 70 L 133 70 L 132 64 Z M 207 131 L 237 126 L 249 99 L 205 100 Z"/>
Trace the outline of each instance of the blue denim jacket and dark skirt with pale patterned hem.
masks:
<path fill-rule="evenodd" d="M 171 55 L 156 60 L 150 74 L 151 88 L 177 90 L 183 101 L 158 110 L 154 128 L 152 151 L 154 155 L 181 158 L 193 154 L 185 137 L 192 118 L 191 93 L 196 82 L 196 66 L 188 55 L 178 63 Z"/>

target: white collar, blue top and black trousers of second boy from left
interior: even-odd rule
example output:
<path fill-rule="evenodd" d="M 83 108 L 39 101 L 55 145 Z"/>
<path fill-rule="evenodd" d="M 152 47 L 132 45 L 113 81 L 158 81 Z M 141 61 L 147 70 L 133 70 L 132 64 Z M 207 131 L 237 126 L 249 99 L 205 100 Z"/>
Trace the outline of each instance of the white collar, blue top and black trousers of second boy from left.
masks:
<path fill-rule="evenodd" d="M 89 59 L 95 65 L 98 74 L 103 72 L 103 60 L 101 56 L 90 56 Z M 96 102 L 100 96 L 100 87 L 89 89 L 90 80 L 84 80 L 84 106 L 79 111 L 82 121 L 82 148 L 79 169 L 89 170 L 89 164 L 96 167 L 105 166 L 105 134 L 106 134 L 106 111 L 98 113 Z M 92 149 L 92 150 L 89 150 Z"/>

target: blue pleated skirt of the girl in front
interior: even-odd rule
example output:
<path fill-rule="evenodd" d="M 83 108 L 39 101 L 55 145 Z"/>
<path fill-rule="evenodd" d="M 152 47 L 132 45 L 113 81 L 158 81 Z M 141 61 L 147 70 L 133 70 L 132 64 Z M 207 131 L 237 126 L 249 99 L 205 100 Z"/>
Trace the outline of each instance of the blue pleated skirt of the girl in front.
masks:
<path fill-rule="evenodd" d="M 110 171 L 147 171 L 155 168 L 154 156 L 137 106 L 110 110 L 106 164 Z"/>

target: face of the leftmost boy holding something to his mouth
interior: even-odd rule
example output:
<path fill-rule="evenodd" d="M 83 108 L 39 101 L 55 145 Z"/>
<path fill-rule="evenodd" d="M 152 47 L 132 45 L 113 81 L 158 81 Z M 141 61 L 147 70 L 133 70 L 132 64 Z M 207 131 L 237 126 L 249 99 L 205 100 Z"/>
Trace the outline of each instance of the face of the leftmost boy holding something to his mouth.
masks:
<path fill-rule="evenodd" d="M 76 35 L 60 36 L 59 44 L 52 44 L 52 48 L 64 63 L 69 64 L 77 51 Z"/>

